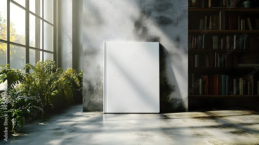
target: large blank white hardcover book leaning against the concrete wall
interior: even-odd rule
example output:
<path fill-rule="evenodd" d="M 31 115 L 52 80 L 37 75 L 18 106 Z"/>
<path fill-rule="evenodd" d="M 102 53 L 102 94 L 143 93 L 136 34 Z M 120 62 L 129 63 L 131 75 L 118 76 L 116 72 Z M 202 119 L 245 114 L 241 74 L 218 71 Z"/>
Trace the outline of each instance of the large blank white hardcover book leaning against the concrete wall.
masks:
<path fill-rule="evenodd" d="M 159 113 L 159 42 L 104 42 L 104 113 Z"/>

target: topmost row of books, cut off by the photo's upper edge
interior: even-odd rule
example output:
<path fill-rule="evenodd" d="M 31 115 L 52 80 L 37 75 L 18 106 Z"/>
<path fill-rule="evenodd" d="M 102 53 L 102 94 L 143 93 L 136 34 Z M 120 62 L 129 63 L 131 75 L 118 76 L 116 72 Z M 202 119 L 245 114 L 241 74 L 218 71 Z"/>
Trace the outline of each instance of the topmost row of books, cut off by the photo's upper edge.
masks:
<path fill-rule="evenodd" d="M 210 7 L 228 7 L 236 8 L 238 0 L 188 0 L 189 7 L 210 8 Z"/>

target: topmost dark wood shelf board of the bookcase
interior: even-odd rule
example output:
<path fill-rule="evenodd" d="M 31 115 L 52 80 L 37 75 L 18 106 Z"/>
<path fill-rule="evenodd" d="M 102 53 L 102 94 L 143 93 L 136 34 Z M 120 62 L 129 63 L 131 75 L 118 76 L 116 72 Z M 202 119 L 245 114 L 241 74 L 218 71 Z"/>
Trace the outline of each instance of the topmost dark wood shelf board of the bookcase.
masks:
<path fill-rule="evenodd" d="M 242 11 L 242 12 L 259 12 L 255 8 L 188 8 L 188 11 Z"/>

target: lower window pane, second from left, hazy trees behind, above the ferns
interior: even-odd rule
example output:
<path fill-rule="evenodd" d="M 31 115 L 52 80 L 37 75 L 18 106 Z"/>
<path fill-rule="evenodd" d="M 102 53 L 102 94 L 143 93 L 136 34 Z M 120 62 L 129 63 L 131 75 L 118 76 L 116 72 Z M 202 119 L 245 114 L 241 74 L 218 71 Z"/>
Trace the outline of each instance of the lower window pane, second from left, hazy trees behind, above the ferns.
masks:
<path fill-rule="evenodd" d="M 25 48 L 10 44 L 10 68 L 23 70 L 25 65 Z"/>

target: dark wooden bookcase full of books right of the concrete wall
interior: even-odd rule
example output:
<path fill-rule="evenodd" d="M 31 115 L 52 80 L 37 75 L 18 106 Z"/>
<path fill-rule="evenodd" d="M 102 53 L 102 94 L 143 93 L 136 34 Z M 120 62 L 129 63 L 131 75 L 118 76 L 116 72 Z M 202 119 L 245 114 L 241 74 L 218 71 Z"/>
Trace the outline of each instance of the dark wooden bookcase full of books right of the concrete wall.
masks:
<path fill-rule="evenodd" d="M 196 2 L 197 2 L 197 0 L 196 0 Z M 188 27 L 188 55 L 189 55 L 189 57 L 188 57 L 188 60 L 192 60 L 192 62 L 188 61 L 188 65 L 189 65 L 189 67 L 188 67 L 188 90 L 193 89 L 193 87 L 192 87 L 193 80 L 196 83 L 197 80 L 198 81 L 202 80 L 201 76 L 207 75 L 209 77 L 210 81 L 211 80 L 214 81 L 213 78 L 211 78 L 211 77 L 218 75 L 217 83 L 214 83 L 214 82 L 211 83 L 208 81 L 202 82 L 203 85 L 204 85 L 204 83 L 206 83 L 208 85 L 213 85 L 212 88 L 216 87 L 217 89 L 214 88 L 214 90 L 218 90 L 218 92 L 215 93 L 215 92 L 213 92 L 213 90 L 207 91 L 208 88 L 207 89 L 205 87 L 202 88 L 203 86 L 201 87 L 202 89 L 200 89 L 199 85 L 196 85 L 197 88 L 193 89 L 193 91 L 191 91 L 191 93 L 188 92 L 189 93 L 188 97 L 190 98 L 190 100 L 192 100 L 192 101 L 195 100 L 196 102 L 203 101 L 203 99 L 206 100 L 205 98 L 212 98 L 212 99 L 219 98 L 222 100 L 224 100 L 224 98 L 240 98 L 241 100 L 242 100 L 242 98 L 256 98 L 256 100 L 259 100 L 259 95 L 257 94 L 257 88 L 258 88 L 257 81 L 259 81 L 259 71 L 253 72 L 253 70 L 255 69 L 254 67 L 237 67 L 238 66 L 237 64 L 243 64 L 243 63 L 246 64 L 247 62 L 256 62 L 256 63 L 247 63 L 247 64 L 259 64 L 259 27 L 257 27 L 258 26 L 257 19 L 259 19 L 259 9 L 256 9 L 256 8 L 226 8 L 226 7 L 224 7 L 224 8 L 222 8 L 222 7 L 198 8 L 197 5 L 198 4 L 196 3 L 195 8 L 190 8 L 190 7 L 188 8 L 188 11 L 189 11 L 189 16 L 188 16 L 189 17 L 189 20 L 188 20 L 188 24 L 189 24 L 189 27 Z M 239 4 L 239 6 L 240 6 L 240 4 Z M 230 17 L 231 15 L 232 15 L 232 17 Z M 206 16 L 206 18 L 205 18 L 205 16 Z M 213 18 L 214 16 L 216 16 L 216 17 Z M 213 30 L 213 27 L 209 27 L 209 25 L 211 24 L 210 17 L 211 17 L 211 19 L 213 19 L 212 24 L 215 25 L 216 23 L 214 23 L 214 20 L 217 20 L 217 26 L 220 25 L 220 28 L 216 27 L 215 30 Z M 238 19 L 239 29 L 236 29 L 235 26 L 237 26 L 237 20 L 235 18 L 238 18 L 238 17 L 240 17 Z M 250 26 L 248 26 L 249 25 L 248 18 L 250 20 L 253 30 L 250 30 Z M 207 19 L 207 21 L 206 21 L 206 19 Z M 228 21 L 227 21 L 227 19 L 228 19 Z M 192 21 L 190 21 L 190 20 L 192 20 Z M 202 20 L 203 20 L 203 22 L 202 22 Z M 241 20 L 245 20 L 246 26 L 243 28 L 241 28 L 241 23 L 242 23 Z M 204 25 L 204 23 L 206 23 L 204 25 L 204 27 L 203 27 L 202 23 L 203 23 L 203 25 Z M 229 23 L 229 25 L 228 25 L 228 23 Z M 194 26 L 191 26 L 191 25 L 194 25 Z M 222 26 L 224 28 L 222 28 Z M 205 39 L 204 35 L 206 35 L 206 39 Z M 246 44 L 246 46 L 244 44 L 243 44 L 243 46 L 241 45 L 241 35 L 246 36 L 246 42 L 244 42 Z M 195 39 L 192 39 L 192 38 L 194 38 L 194 36 L 196 37 L 196 41 L 194 41 L 195 43 L 192 43 L 192 40 L 195 40 Z M 200 47 L 200 39 L 199 39 L 200 36 L 202 36 L 202 47 Z M 219 43 L 218 44 L 219 47 L 217 49 L 213 49 L 215 47 L 214 41 L 217 41 L 217 39 L 214 39 L 215 36 L 218 37 L 218 42 L 216 42 L 216 43 Z M 191 39 L 189 39 L 190 37 L 191 37 Z M 227 42 L 225 42 L 226 48 L 222 47 L 223 45 L 221 45 L 221 43 L 224 42 L 223 41 L 224 37 L 229 37 L 229 39 L 227 38 L 227 41 L 228 40 L 231 41 L 231 42 L 228 41 L 228 43 L 232 47 L 231 46 L 227 47 L 227 45 L 228 45 Z M 234 39 L 234 37 L 235 37 L 235 39 Z M 206 48 L 204 45 L 205 44 L 204 39 L 206 40 Z M 232 39 L 234 39 L 234 41 L 232 41 Z M 244 39 L 242 39 L 242 40 L 245 41 Z M 258 42 L 256 42 L 257 40 L 258 40 Z M 189 43 L 189 41 L 191 41 L 191 43 Z M 251 43 L 250 43 L 250 41 L 251 41 Z M 252 43 L 253 41 L 255 41 L 257 43 L 257 46 L 255 46 L 255 45 L 253 46 L 253 43 Z M 238 45 L 240 44 L 241 47 L 235 45 L 236 43 L 238 43 Z M 192 46 L 193 44 L 196 44 L 196 46 L 193 47 Z M 224 43 L 222 43 L 222 44 L 224 44 Z M 234 46 L 236 49 L 233 49 Z M 226 60 L 224 59 L 225 62 L 222 61 L 222 63 L 221 63 L 221 60 L 222 60 L 221 57 L 224 56 L 224 54 L 226 54 L 229 51 L 231 51 L 231 53 L 227 54 L 228 59 L 226 59 Z M 218 57 L 215 56 L 216 55 L 215 53 L 217 54 L 217 56 L 219 56 L 220 67 L 217 67 Z M 196 55 L 199 55 L 199 59 L 195 59 Z M 190 56 L 192 56 L 191 59 L 190 59 Z M 203 56 L 203 58 L 201 56 Z M 208 57 L 209 57 L 209 59 L 208 59 Z M 215 57 L 217 59 L 214 59 Z M 214 62 L 213 62 L 213 59 L 214 59 Z M 207 60 L 209 60 L 209 62 L 207 62 Z M 258 62 L 257 62 L 257 60 L 258 60 Z M 194 67 L 195 61 L 202 62 L 202 67 Z M 215 61 L 217 61 L 217 62 L 215 62 Z M 192 63 L 193 67 L 190 67 L 190 63 Z M 217 65 L 216 65 L 216 63 L 217 63 Z M 209 64 L 209 67 L 207 67 L 208 64 Z M 216 65 L 216 67 L 215 67 L 215 65 Z M 206 66 L 206 67 L 204 67 L 204 66 Z M 193 75 L 191 75 L 191 74 L 193 74 Z M 230 92 L 229 92 L 230 85 L 231 85 L 230 80 L 238 79 L 238 78 L 246 79 L 245 77 L 248 74 L 252 74 L 253 77 L 251 77 L 251 79 L 250 78 L 249 79 L 252 80 L 253 83 L 249 82 L 249 86 L 248 86 L 248 84 L 244 83 L 242 85 L 244 92 L 239 94 L 239 90 L 238 90 L 237 95 L 229 95 L 230 94 Z M 222 83 L 221 77 L 224 75 L 228 76 L 228 78 L 227 78 L 227 79 L 229 79 L 228 83 L 226 83 L 226 80 L 227 80 L 226 78 L 225 78 L 225 83 Z M 192 79 L 193 76 L 194 76 L 194 79 Z M 204 79 L 202 81 L 204 81 Z M 247 83 L 248 83 L 249 80 L 247 79 L 245 81 L 247 81 Z M 218 86 L 214 86 L 215 84 L 218 84 Z M 251 86 L 250 86 L 250 84 L 251 84 Z M 226 85 L 228 85 L 227 86 L 228 93 L 224 94 L 224 92 L 225 93 L 227 92 Z M 225 90 L 222 89 L 221 86 L 225 87 Z M 251 89 L 252 86 L 253 86 L 253 89 Z M 238 85 L 236 85 L 236 87 L 238 87 Z M 248 87 L 250 87 L 250 88 L 248 88 Z M 204 89 L 205 89 L 205 91 L 204 91 Z M 211 88 L 209 88 L 209 89 L 211 89 Z M 201 90 L 202 90 L 202 92 L 200 92 Z M 249 95 L 248 95 L 248 92 L 249 92 Z M 252 92 L 253 92 L 253 95 L 252 95 Z M 208 94 L 206 94 L 206 93 L 208 93 Z M 211 93 L 211 94 L 209 94 L 209 93 Z M 215 93 L 215 95 L 213 93 Z M 244 95 L 242 95 L 242 94 L 244 94 Z"/>

